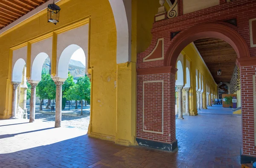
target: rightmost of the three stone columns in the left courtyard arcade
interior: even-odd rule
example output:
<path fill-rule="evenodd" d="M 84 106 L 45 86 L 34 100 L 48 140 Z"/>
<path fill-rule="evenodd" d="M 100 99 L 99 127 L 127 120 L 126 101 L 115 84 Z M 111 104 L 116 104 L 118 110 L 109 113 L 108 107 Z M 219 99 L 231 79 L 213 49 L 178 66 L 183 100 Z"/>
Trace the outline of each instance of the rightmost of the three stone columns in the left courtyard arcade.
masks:
<path fill-rule="evenodd" d="M 56 81 L 56 100 L 55 100 L 55 128 L 61 127 L 61 100 L 63 82 Z"/>

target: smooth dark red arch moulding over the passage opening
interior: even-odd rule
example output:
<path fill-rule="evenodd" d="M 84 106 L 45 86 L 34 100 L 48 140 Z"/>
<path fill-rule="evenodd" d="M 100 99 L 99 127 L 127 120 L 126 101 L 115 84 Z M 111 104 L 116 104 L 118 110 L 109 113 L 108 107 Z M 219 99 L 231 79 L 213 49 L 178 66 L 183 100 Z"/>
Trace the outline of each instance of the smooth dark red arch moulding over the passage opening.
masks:
<path fill-rule="evenodd" d="M 181 31 L 173 38 L 166 51 L 164 65 L 175 66 L 177 57 L 183 48 L 195 40 L 207 37 L 219 38 L 229 43 L 236 51 L 238 58 L 250 57 L 248 45 L 237 31 L 218 23 L 204 23 L 193 26 L 186 31 Z"/>

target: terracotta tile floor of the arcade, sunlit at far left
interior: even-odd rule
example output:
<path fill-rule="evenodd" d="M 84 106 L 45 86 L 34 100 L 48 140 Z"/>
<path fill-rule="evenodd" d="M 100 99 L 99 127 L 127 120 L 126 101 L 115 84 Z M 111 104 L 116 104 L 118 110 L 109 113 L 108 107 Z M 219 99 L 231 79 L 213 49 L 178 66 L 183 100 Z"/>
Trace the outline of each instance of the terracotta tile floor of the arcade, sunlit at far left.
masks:
<path fill-rule="evenodd" d="M 170 153 L 88 138 L 77 128 L 0 120 L 0 168 L 241 168 L 240 116 L 176 121 L 179 151 Z"/>

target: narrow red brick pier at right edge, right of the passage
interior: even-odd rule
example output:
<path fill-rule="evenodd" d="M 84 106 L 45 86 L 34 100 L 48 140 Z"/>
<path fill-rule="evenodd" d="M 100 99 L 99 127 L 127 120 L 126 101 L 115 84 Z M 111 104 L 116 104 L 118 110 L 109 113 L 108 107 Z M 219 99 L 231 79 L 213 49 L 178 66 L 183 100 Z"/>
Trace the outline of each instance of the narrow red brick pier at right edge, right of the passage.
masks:
<path fill-rule="evenodd" d="M 256 74 L 256 65 L 241 67 L 240 73 L 243 154 L 256 157 L 253 110 L 253 75 Z"/>

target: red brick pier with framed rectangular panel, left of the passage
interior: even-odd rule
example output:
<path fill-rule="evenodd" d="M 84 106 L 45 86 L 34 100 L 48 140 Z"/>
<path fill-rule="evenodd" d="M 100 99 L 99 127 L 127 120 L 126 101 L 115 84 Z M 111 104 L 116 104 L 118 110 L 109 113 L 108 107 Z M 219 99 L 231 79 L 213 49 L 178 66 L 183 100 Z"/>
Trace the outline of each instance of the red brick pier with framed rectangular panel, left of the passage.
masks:
<path fill-rule="evenodd" d="M 163 80 L 163 134 L 146 132 L 158 131 L 162 125 L 161 117 L 155 114 L 162 112 L 162 101 L 156 98 L 162 97 L 162 83 L 144 83 L 144 125 L 143 125 L 143 82 Z M 171 94 L 173 93 L 173 94 Z M 155 98 L 153 98 L 155 97 Z M 157 142 L 172 143 L 176 140 L 175 133 L 175 75 L 151 74 L 137 76 L 137 138 Z M 151 115 L 150 115 L 151 113 Z M 150 115 L 150 116 L 149 116 Z M 146 119 L 146 120 L 145 120 Z M 156 122 L 148 125 L 149 122 Z M 146 131 L 143 131 L 143 127 Z M 154 127 L 156 126 L 156 127 Z M 159 131 L 161 132 L 161 130 Z"/>

